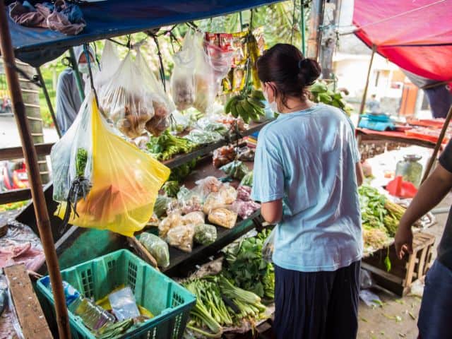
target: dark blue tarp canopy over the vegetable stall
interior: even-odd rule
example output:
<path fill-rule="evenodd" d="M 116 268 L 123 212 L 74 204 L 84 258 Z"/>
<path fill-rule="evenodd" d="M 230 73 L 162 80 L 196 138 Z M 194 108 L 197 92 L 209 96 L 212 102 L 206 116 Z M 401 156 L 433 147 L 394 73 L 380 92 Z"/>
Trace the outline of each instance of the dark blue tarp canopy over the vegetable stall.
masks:
<path fill-rule="evenodd" d="M 69 47 L 108 37 L 185 23 L 244 11 L 279 1 L 244 0 L 107 0 L 81 4 L 87 23 L 78 35 L 68 36 L 43 28 L 28 28 L 9 18 L 16 57 L 40 66 L 63 54 Z"/>

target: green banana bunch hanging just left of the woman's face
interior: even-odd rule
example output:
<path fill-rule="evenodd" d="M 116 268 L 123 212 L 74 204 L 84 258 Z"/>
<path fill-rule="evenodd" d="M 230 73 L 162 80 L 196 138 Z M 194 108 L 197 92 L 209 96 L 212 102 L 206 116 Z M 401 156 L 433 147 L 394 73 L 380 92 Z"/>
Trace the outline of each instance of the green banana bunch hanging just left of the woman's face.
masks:
<path fill-rule="evenodd" d="M 252 90 L 247 94 L 239 94 L 227 100 L 225 105 L 225 113 L 232 114 L 234 118 L 242 118 L 245 124 L 249 121 L 258 121 L 265 115 L 263 109 L 266 105 L 262 100 L 265 100 L 261 90 Z"/>

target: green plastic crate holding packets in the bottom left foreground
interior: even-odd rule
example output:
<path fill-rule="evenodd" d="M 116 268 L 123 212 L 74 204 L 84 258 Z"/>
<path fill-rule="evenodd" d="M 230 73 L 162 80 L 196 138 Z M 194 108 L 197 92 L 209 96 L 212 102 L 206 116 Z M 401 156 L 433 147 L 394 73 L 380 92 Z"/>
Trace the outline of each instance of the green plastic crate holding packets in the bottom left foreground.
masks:
<path fill-rule="evenodd" d="M 85 297 L 98 300 L 119 285 L 130 286 L 136 302 L 155 317 L 119 338 L 179 339 L 196 297 L 181 285 L 158 272 L 130 251 L 121 249 L 61 271 L 63 280 Z M 52 291 L 37 281 L 37 292 L 47 319 L 54 319 Z M 78 316 L 69 311 L 72 338 L 95 339 Z"/>

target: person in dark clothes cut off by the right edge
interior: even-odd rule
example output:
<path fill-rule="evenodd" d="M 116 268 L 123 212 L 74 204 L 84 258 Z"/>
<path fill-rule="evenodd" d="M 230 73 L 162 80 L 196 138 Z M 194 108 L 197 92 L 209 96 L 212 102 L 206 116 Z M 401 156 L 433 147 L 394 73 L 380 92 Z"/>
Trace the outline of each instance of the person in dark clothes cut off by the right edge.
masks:
<path fill-rule="evenodd" d="M 396 233 L 398 257 L 412 253 L 411 226 L 434 208 L 452 189 L 452 141 L 439 157 L 439 165 L 420 186 L 408 206 Z M 452 209 L 438 247 L 438 257 L 425 278 L 417 327 L 422 339 L 452 338 Z"/>

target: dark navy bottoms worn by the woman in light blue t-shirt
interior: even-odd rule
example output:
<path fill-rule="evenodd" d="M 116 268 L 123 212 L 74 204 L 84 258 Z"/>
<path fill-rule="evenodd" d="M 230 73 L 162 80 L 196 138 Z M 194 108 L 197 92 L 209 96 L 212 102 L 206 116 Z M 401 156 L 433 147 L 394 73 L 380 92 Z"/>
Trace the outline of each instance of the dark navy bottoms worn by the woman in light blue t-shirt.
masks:
<path fill-rule="evenodd" d="M 299 272 L 275 266 L 278 339 L 355 339 L 360 261 L 332 272 Z"/>

